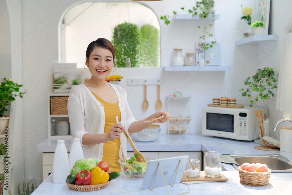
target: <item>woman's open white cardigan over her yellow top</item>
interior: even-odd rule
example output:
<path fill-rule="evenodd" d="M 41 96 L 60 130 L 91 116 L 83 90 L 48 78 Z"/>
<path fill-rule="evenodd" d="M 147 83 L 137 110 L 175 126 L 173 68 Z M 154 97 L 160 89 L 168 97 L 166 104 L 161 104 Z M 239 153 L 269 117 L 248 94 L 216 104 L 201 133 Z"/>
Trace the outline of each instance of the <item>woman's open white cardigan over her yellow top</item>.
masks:
<path fill-rule="evenodd" d="M 114 88 L 119 100 L 121 122 L 124 123 L 128 130 L 132 122 L 135 121 L 135 118 L 128 105 L 126 91 L 118 85 L 110 85 Z M 82 144 L 82 137 L 86 133 L 104 133 L 104 106 L 93 96 L 91 91 L 83 83 L 71 88 L 68 98 L 68 116 L 73 138 L 80 138 L 81 145 L 83 146 L 84 158 L 97 158 L 101 161 L 103 156 L 103 143 L 93 146 L 84 146 Z M 123 133 L 121 133 L 121 139 L 123 151 L 126 154 L 126 137 Z M 122 158 L 121 147 L 119 149 L 119 156 Z"/>

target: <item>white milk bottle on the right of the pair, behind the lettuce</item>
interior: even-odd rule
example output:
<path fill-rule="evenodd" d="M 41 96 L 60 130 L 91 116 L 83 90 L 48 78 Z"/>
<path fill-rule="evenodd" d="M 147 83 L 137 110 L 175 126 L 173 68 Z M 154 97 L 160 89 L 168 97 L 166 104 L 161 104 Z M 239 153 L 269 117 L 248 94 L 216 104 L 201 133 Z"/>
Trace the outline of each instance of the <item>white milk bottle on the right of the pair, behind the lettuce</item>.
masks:
<path fill-rule="evenodd" d="M 69 170 L 72 169 L 75 162 L 84 159 L 83 150 L 79 138 L 74 138 L 69 153 Z"/>

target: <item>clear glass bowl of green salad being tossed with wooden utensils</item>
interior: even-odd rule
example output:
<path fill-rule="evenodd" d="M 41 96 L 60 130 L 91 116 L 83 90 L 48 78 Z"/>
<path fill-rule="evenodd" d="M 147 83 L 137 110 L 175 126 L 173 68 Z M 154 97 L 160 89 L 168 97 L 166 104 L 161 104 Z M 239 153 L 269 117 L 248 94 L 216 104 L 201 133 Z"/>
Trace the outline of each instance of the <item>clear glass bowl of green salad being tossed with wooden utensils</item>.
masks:
<path fill-rule="evenodd" d="M 131 157 L 127 157 L 126 161 L 130 159 Z M 145 157 L 145 160 L 149 162 L 150 160 L 154 160 L 154 158 Z M 121 165 L 122 172 L 130 179 L 142 179 L 145 175 L 147 163 L 123 163 L 123 158 L 120 158 L 118 163 Z"/>

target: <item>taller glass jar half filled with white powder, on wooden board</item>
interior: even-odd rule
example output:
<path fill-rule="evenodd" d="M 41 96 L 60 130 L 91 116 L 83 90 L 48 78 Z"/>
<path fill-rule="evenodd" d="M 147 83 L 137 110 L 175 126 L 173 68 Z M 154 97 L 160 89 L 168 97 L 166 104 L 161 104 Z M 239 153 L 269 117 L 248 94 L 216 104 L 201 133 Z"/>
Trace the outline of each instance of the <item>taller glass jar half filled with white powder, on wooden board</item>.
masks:
<path fill-rule="evenodd" d="M 220 152 L 209 151 L 204 156 L 205 175 L 207 177 L 219 177 L 221 175 Z"/>

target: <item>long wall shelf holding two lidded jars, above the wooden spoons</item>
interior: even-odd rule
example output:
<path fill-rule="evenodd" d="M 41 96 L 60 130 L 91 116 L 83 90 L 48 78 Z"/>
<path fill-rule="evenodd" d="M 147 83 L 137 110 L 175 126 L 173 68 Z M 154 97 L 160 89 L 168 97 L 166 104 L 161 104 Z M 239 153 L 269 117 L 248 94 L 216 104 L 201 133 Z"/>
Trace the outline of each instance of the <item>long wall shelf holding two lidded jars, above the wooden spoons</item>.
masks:
<path fill-rule="evenodd" d="M 164 66 L 164 71 L 230 71 L 230 66 Z"/>

